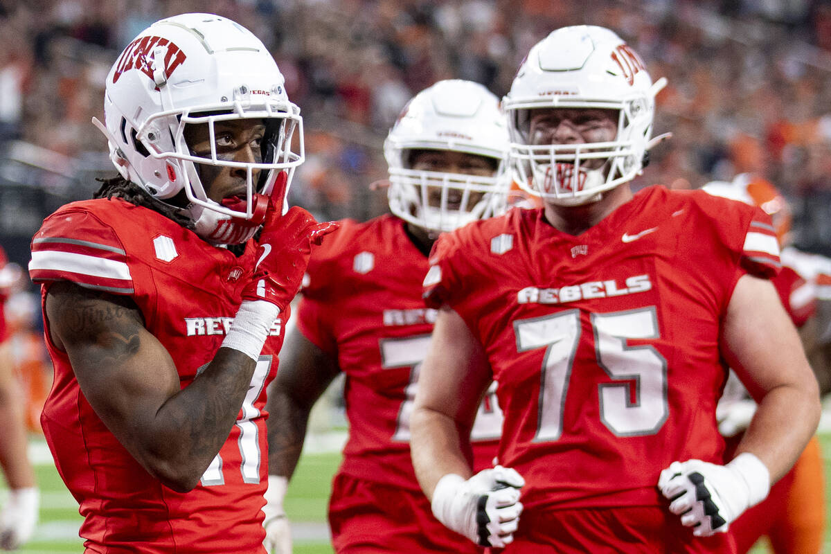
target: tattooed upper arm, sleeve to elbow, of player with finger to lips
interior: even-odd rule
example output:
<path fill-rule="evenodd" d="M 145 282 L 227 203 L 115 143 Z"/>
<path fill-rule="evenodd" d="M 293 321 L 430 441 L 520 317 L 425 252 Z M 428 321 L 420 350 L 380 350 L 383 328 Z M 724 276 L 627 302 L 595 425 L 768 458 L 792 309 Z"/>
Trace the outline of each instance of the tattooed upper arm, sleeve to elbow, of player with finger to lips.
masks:
<path fill-rule="evenodd" d="M 47 294 L 46 315 L 86 400 L 122 442 L 179 391 L 170 354 L 129 298 L 57 282 Z"/>

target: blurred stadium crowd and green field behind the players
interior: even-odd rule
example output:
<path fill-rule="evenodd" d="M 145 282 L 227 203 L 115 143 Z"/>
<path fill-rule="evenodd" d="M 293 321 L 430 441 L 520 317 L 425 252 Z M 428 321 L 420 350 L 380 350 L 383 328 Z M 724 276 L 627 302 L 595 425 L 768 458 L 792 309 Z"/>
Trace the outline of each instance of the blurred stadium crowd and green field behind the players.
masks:
<path fill-rule="evenodd" d="M 273 52 L 306 130 L 291 200 L 318 218 L 386 211 L 369 184 L 386 177 L 382 141 L 416 91 L 460 77 L 502 96 L 529 47 L 586 22 L 617 30 L 653 78 L 669 80 L 655 132 L 674 136 L 642 184 L 696 188 L 762 174 L 794 208 L 796 245 L 831 255 L 828 1 L 0 0 L 0 245 L 12 262 L 26 267 L 47 213 L 115 175 L 90 124 L 101 117 L 106 72 L 141 29 L 181 12 L 230 17 Z M 37 303 L 17 310 L 37 330 Z M 290 490 L 297 552 L 331 552 L 322 522 L 344 427 L 337 388 L 328 398 Z M 76 504 L 31 419 L 45 495 L 38 538 L 23 552 L 79 552 Z M 827 459 L 829 444 L 831 435 Z"/>

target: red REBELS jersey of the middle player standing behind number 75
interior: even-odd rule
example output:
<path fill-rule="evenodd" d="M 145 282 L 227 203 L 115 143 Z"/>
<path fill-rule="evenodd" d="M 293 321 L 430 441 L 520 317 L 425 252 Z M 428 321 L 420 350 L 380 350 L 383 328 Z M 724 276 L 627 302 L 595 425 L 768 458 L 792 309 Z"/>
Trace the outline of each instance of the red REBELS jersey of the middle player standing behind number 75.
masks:
<path fill-rule="evenodd" d="M 427 258 L 391 215 L 341 228 L 312 252 L 297 327 L 346 374 L 349 440 L 343 473 L 420 490 L 410 458 L 410 414 L 436 311 L 421 282 Z M 495 385 L 492 385 L 495 390 Z M 474 466 L 492 467 L 502 424 L 486 395 L 472 433 Z"/>

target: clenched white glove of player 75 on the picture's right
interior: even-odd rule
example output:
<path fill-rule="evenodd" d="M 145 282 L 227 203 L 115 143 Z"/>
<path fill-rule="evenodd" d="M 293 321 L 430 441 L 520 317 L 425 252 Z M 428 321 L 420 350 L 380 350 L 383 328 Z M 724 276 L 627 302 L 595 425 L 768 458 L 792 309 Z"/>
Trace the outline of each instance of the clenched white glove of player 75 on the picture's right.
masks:
<path fill-rule="evenodd" d="M 754 454 L 740 453 L 726 465 L 687 460 L 673 462 L 658 479 L 670 512 L 695 527 L 696 537 L 725 532 L 742 512 L 767 498 L 770 472 Z"/>

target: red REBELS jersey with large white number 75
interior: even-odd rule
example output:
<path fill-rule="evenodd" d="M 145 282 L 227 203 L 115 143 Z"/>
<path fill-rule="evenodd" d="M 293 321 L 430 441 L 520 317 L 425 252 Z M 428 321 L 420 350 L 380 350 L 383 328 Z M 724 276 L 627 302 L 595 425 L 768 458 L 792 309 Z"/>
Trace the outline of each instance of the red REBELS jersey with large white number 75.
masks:
<path fill-rule="evenodd" d="M 778 254 L 760 209 L 658 186 L 576 237 L 514 209 L 439 239 L 428 302 L 486 349 L 526 509 L 661 504 L 671 462 L 721 463 L 720 321 Z"/>

